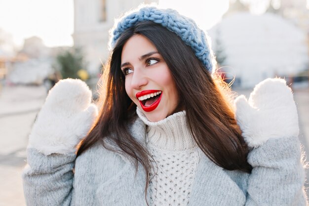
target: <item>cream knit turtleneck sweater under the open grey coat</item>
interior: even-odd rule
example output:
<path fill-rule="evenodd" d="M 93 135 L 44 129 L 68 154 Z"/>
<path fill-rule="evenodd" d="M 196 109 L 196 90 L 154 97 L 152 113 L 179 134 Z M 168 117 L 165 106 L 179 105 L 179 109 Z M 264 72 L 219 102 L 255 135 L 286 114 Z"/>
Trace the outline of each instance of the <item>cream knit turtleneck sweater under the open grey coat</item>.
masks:
<path fill-rule="evenodd" d="M 147 125 L 147 149 L 155 161 L 150 174 L 150 204 L 187 206 L 201 151 L 186 123 L 186 112 L 155 123 L 138 108 L 137 114 Z"/>

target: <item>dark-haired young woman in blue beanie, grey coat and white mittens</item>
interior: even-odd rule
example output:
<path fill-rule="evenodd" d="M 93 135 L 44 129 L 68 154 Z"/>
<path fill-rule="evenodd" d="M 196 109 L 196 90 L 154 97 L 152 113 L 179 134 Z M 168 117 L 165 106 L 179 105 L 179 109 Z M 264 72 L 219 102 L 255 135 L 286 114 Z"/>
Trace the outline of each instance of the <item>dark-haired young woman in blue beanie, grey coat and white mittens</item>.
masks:
<path fill-rule="evenodd" d="M 125 15 L 111 47 L 99 112 L 81 81 L 50 90 L 29 139 L 29 206 L 306 205 L 284 80 L 235 110 L 204 32 L 171 9 Z"/>

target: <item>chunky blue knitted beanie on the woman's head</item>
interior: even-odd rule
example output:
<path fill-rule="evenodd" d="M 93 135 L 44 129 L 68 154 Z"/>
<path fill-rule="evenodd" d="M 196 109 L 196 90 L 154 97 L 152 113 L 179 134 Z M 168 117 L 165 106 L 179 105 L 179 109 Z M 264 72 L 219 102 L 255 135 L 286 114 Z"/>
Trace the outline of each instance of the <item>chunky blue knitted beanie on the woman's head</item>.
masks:
<path fill-rule="evenodd" d="M 153 21 L 176 33 L 187 45 L 191 46 L 206 70 L 212 73 L 215 68 L 215 61 L 206 34 L 197 27 L 192 19 L 173 9 L 143 6 L 138 11 L 124 15 L 111 30 L 110 48 L 114 48 L 123 31 L 142 21 Z"/>

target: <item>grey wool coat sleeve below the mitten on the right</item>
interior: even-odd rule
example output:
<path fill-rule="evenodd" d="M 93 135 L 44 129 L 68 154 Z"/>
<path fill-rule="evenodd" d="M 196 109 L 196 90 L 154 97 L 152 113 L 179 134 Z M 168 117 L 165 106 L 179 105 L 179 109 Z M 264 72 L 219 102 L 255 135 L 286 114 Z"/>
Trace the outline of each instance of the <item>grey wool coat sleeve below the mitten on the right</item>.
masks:
<path fill-rule="evenodd" d="M 306 206 L 301 156 L 296 137 L 269 139 L 253 149 L 248 155 L 253 169 L 245 206 Z"/>

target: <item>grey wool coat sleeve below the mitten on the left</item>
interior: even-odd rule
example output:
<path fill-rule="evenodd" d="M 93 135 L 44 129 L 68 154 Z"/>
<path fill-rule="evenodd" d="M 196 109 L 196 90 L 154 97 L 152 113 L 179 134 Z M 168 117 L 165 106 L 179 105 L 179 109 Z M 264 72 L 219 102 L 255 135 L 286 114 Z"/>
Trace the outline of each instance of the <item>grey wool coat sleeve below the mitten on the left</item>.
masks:
<path fill-rule="evenodd" d="M 23 170 L 27 206 L 70 206 L 76 155 L 44 155 L 29 148 Z"/>

